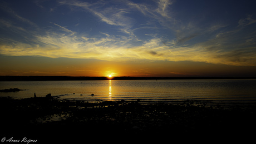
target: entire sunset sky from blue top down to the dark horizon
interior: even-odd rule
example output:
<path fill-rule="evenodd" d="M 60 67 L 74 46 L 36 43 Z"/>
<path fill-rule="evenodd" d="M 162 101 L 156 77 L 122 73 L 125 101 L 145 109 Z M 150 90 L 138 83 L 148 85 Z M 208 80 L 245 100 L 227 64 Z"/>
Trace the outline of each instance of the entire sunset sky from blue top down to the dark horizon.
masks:
<path fill-rule="evenodd" d="M 256 2 L 1 0 L 1 76 L 256 77 Z"/>

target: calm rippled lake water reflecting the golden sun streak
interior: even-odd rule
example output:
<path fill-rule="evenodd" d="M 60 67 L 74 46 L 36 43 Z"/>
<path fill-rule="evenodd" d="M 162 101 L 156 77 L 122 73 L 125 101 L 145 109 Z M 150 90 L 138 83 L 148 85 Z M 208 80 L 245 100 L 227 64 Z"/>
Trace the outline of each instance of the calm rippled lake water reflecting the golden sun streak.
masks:
<path fill-rule="evenodd" d="M 210 100 L 255 102 L 256 80 L 108 80 L 108 81 L 1 81 L 1 97 L 38 97 L 51 93 L 60 99 L 86 101 L 170 102 Z M 91 96 L 91 94 L 94 96 Z"/>

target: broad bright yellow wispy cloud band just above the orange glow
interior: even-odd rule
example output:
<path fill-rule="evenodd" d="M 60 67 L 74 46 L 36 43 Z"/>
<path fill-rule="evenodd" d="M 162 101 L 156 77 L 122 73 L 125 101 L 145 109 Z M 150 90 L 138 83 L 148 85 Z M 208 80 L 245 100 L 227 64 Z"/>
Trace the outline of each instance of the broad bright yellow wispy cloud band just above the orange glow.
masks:
<path fill-rule="evenodd" d="M 244 46 L 242 44 L 242 46 L 225 51 L 224 49 L 227 49 L 229 44 L 221 43 L 218 38 L 197 43 L 193 46 L 177 45 L 176 41 L 163 44 L 160 38 L 151 38 L 141 46 L 132 46 L 127 39 L 104 33 L 102 33 L 101 38 L 88 38 L 77 34 L 65 34 L 64 36 L 61 33 L 48 32 L 45 36 L 36 36 L 33 43 L 35 44 L 22 42 L 2 44 L 0 53 L 8 56 L 68 57 L 105 61 L 147 59 L 154 61 L 194 61 L 237 66 L 256 65 L 254 47 L 247 46 L 247 48 L 239 49 L 239 47 Z"/>

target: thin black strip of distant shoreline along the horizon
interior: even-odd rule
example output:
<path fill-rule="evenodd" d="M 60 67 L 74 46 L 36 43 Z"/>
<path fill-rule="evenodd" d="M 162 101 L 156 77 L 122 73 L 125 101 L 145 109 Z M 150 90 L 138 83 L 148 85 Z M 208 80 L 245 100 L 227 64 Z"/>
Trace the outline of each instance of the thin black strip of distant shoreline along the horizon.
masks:
<path fill-rule="evenodd" d="M 0 81 L 87 81 L 87 80 L 214 80 L 256 79 L 256 77 L 72 77 L 72 76 L 0 76 Z"/>

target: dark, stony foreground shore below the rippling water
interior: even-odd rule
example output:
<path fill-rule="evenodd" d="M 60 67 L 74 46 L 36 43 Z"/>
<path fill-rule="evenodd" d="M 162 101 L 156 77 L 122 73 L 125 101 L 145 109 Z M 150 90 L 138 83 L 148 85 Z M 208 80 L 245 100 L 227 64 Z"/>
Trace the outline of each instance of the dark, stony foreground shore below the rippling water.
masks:
<path fill-rule="evenodd" d="M 0 98 L 1 137 L 45 142 L 127 142 L 253 138 L 256 107 L 205 107 L 170 103 L 88 103 L 36 97 Z M 194 138 L 194 139 L 193 139 Z M 29 142 L 33 143 L 33 142 Z"/>

